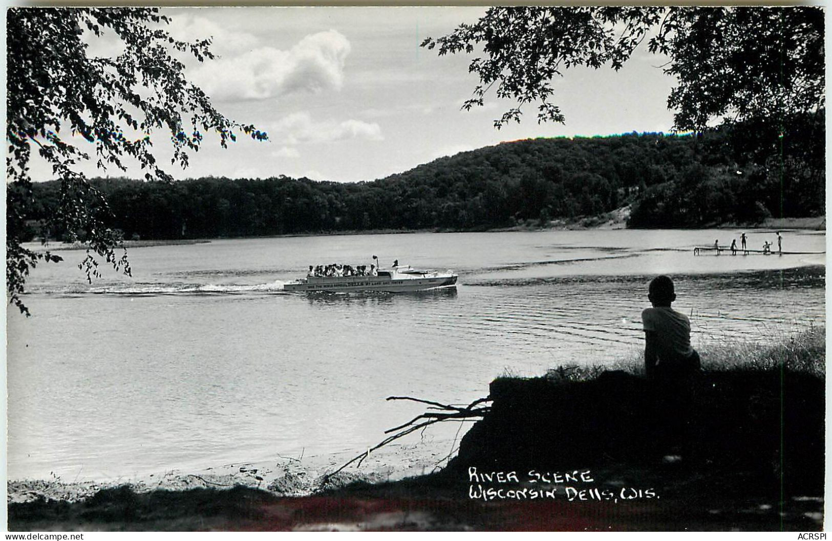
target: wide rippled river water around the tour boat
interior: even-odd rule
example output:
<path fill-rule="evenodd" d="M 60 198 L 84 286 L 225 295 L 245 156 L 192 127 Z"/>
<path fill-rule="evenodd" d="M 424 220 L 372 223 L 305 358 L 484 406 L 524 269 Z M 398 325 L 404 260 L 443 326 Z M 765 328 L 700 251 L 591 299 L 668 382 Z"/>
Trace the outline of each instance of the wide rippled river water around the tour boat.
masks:
<path fill-rule="evenodd" d="M 132 278 L 37 268 L 7 316 L 8 477 L 113 480 L 366 449 L 423 408 L 468 403 L 503 373 L 608 364 L 642 347 L 656 273 L 694 346 L 825 324 L 825 234 L 763 256 L 694 255 L 738 231 L 335 235 L 131 248 Z M 749 248 L 775 240 L 749 234 Z M 776 243 L 775 243 L 776 246 Z M 814 252 L 812 254 L 811 252 Z M 285 293 L 310 264 L 394 258 L 456 289 Z M 453 437 L 457 426 L 429 431 Z M 463 429 L 464 430 L 464 429 Z M 414 436 L 417 437 L 417 436 Z"/>

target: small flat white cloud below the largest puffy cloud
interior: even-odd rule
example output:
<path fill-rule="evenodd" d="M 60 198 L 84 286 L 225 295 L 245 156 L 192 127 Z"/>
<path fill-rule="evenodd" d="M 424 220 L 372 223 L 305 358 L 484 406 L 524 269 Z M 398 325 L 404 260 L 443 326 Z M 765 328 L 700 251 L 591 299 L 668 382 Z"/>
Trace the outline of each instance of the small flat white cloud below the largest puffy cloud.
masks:
<path fill-rule="evenodd" d="M 324 120 L 316 122 L 309 113 L 292 113 L 280 120 L 270 130 L 276 139 L 284 140 L 289 145 L 299 143 L 324 143 L 337 140 L 364 139 L 384 140 L 381 126 L 375 122 L 363 120 Z"/>

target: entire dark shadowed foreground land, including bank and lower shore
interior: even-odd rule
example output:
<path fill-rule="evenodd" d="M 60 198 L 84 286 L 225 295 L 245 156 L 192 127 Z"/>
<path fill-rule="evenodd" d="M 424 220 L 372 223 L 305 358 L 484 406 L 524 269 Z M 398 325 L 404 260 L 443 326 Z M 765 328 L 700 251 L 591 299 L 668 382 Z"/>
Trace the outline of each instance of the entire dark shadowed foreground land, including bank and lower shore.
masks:
<path fill-rule="evenodd" d="M 17 499 L 8 504 L 8 526 L 12 531 L 822 529 L 825 329 L 775 347 L 735 349 L 731 354 L 741 366 L 729 353 L 719 356 L 720 366 L 729 367 L 705 371 L 684 388 L 626 371 L 558 370 L 546 377 L 495 380 L 488 412 L 463 437 L 458 455 L 434 475 L 369 484 L 366 480 L 384 477 L 350 469 L 324 476 L 315 494 L 297 497 L 289 494 L 299 494 L 305 474 L 286 473 L 268 483 L 268 491 L 121 486 L 91 490 L 81 497 L 92 496 L 80 501 L 69 495 L 48 498 L 73 489 L 81 494 L 72 485 L 33 491 L 42 482 L 19 481 L 9 484 L 10 498 Z M 181 481 L 195 477 L 206 481 L 195 475 Z M 233 476 L 211 479 L 238 482 Z"/>

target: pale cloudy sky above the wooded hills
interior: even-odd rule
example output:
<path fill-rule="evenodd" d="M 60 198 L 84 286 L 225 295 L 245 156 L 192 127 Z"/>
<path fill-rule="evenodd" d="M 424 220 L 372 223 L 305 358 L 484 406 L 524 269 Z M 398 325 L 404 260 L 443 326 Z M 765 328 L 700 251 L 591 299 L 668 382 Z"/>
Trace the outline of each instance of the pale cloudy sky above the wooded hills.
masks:
<path fill-rule="evenodd" d="M 501 141 L 560 135 L 668 131 L 666 107 L 673 80 L 666 59 L 641 48 L 621 71 L 572 68 L 555 82 L 554 101 L 565 125 L 537 124 L 533 108 L 522 123 L 493 127 L 512 105 L 491 95 L 463 111 L 478 77 L 475 55 L 439 57 L 419 47 L 485 7 L 179 7 L 162 8 L 177 38 L 213 38 L 219 56 L 188 63 L 196 82 L 225 116 L 254 124 L 270 140 L 245 137 L 228 149 L 208 138 L 186 170 L 167 165 L 176 179 L 201 176 L 357 182 L 410 170 L 445 155 Z M 113 40 L 90 41 L 88 54 L 115 54 Z M 169 134 L 151 138 L 157 158 L 170 164 Z M 83 143 L 81 144 L 83 145 Z M 82 170 L 92 176 L 143 176 L 128 170 Z M 32 164 L 35 180 L 51 178 Z"/>

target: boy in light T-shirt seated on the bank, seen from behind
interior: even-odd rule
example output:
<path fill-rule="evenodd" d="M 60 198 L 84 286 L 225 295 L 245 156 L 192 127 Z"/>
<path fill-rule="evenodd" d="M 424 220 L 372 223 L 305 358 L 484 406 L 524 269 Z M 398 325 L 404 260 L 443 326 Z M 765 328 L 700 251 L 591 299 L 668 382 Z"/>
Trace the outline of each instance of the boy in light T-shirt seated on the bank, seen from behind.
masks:
<path fill-rule="evenodd" d="M 691 322 L 671 308 L 676 300 L 671 278 L 653 278 L 647 298 L 653 307 L 641 312 L 646 376 L 677 379 L 699 371 L 699 354 L 691 347 Z"/>

